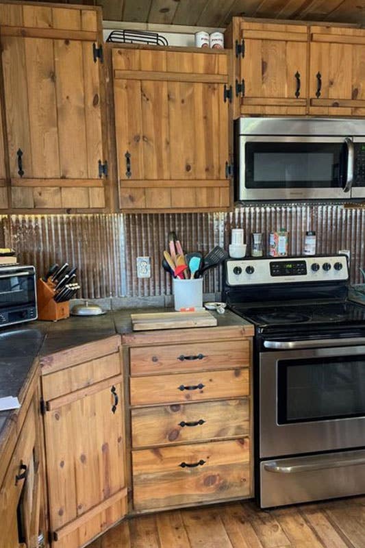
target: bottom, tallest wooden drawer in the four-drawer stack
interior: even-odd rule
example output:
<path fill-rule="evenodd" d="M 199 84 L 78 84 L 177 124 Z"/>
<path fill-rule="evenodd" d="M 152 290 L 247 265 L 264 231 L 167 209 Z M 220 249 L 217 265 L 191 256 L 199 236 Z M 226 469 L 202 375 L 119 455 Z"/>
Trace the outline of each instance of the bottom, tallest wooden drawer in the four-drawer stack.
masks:
<path fill-rule="evenodd" d="M 134 508 L 249 497 L 249 438 L 132 451 Z"/>

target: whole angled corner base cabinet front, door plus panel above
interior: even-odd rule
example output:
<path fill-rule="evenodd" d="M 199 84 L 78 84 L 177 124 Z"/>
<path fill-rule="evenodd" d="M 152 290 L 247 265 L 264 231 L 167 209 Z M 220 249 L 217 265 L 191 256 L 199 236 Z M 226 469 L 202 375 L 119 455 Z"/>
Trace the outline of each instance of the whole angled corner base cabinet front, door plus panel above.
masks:
<path fill-rule="evenodd" d="M 113 336 L 42 359 L 54 548 L 79 548 L 127 513 L 119 346 Z"/>

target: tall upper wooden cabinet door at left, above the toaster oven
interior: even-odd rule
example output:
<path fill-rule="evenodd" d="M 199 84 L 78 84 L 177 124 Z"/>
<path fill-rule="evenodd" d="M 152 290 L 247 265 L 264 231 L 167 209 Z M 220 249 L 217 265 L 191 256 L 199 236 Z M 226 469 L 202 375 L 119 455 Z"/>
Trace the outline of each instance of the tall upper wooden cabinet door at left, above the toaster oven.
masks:
<path fill-rule="evenodd" d="M 0 4 L 13 208 L 105 207 L 99 12 Z"/>

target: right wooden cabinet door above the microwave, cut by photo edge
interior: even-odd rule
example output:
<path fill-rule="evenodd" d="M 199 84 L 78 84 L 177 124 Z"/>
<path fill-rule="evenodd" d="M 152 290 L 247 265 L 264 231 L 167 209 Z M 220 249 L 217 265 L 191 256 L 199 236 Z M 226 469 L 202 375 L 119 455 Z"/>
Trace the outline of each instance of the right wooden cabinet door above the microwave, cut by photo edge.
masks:
<path fill-rule="evenodd" d="M 365 115 L 365 31 L 311 27 L 310 114 Z"/>

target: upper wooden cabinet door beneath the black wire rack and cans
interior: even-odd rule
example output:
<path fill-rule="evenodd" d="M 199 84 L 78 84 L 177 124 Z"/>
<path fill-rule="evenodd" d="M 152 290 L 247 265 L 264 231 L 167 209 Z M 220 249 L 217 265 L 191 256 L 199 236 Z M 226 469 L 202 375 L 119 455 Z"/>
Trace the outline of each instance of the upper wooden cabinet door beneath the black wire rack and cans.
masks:
<path fill-rule="evenodd" d="M 119 205 L 229 207 L 227 53 L 114 49 Z"/>

